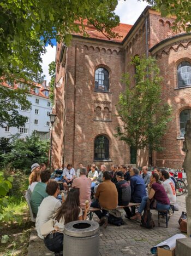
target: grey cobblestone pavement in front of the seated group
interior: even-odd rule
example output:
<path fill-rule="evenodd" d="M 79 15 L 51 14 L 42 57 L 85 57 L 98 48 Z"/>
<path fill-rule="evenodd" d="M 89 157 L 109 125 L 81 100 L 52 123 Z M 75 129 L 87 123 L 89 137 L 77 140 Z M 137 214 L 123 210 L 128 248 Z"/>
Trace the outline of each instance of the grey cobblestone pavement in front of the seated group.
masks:
<path fill-rule="evenodd" d="M 156 226 L 153 229 L 145 229 L 140 226 L 139 221 L 128 220 L 124 216 L 125 224 L 120 227 L 110 224 L 106 229 L 100 227 L 99 254 L 102 256 L 152 255 L 151 247 L 180 233 L 178 219 L 182 211 L 186 211 L 185 196 L 178 196 L 177 202 L 179 211 L 175 211 L 172 214 L 167 229 L 164 219 L 160 219 L 160 227 L 158 226 L 158 212 L 154 210 L 152 211 L 152 216 Z M 122 212 L 124 214 L 123 210 Z M 98 218 L 95 216 L 93 219 L 98 221 Z"/>

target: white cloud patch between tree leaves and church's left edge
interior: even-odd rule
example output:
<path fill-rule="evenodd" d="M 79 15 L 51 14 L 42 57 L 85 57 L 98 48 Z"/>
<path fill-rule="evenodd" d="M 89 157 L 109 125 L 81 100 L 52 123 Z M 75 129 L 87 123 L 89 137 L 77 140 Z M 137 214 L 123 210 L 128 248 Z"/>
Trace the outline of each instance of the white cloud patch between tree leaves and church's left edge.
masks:
<path fill-rule="evenodd" d="M 45 80 L 47 83 L 50 82 L 51 77 L 49 76 L 49 64 L 52 61 L 55 61 L 55 56 L 56 56 L 56 46 L 51 47 L 48 45 L 46 47 L 46 53 L 44 55 L 41 55 L 41 58 L 43 60 L 43 63 L 41 64 L 43 68 L 43 75 L 45 75 Z"/>

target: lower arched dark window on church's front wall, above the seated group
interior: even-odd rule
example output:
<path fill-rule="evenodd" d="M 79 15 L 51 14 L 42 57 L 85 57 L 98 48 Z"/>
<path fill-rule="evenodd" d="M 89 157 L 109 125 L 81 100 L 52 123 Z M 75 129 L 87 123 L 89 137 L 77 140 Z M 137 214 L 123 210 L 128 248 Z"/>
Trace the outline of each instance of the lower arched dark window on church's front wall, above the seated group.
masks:
<path fill-rule="evenodd" d="M 94 141 L 94 159 L 109 159 L 109 140 L 103 135 L 97 136 Z"/>

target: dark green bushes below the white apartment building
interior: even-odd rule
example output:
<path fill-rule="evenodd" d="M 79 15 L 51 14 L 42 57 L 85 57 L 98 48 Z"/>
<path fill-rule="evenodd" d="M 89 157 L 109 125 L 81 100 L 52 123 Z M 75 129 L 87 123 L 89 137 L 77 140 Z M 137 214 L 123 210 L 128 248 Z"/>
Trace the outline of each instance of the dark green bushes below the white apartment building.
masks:
<path fill-rule="evenodd" d="M 48 161 L 49 140 L 40 140 L 35 133 L 25 139 L 12 136 L 10 145 L 11 150 L 1 155 L 0 164 L 5 169 L 20 169 L 30 172 L 33 163 Z"/>

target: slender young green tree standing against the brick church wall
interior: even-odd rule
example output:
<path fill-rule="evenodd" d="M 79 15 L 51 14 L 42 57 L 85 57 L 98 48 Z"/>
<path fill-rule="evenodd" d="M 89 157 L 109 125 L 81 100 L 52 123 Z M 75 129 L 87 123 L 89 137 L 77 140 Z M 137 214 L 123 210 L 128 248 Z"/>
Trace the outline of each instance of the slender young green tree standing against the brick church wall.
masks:
<path fill-rule="evenodd" d="M 162 77 L 156 59 L 136 56 L 132 65 L 136 66 L 136 86 L 130 84 L 129 73 L 123 75 L 126 91 L 120 94 L 117 105 L 123 124 L 116 128 L 116 136 L 135 148 L 138 164 L 138 149 L 150 145 L 151 150 L 162 150 L 160 140 L 171 120 L 171 107 L 162 104 Z"/>

